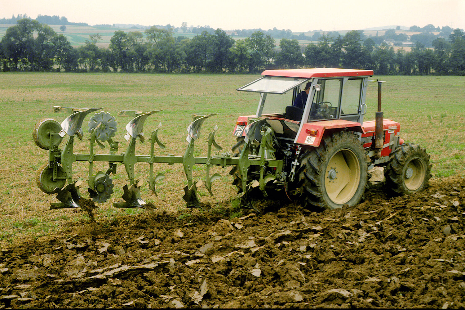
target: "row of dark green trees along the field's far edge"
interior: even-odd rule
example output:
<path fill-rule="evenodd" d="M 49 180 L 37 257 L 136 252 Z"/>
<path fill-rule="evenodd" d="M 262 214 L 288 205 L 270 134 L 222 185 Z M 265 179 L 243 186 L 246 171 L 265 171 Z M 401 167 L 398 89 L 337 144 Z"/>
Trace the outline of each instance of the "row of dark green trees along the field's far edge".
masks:
<path fill-rule="evenodd" d="M 395 33 L 394 33 L 395 34 Z M 0 42 L 2 71 L 68 72 L 239 72 L 265 68 L 345 67 L 373 69 L 375 74 L 465 75 L 465 34 L 455 29 L 438 37 L 432 48 L 417 41 L 411 52 L 352 30 L 344 36 L 322 34 L 306 47 L 283 38 L 276 46 L 261 30 L 234 40 L 222 29 L 202 31 L 192 39 L 174 36 L 171 28 L 147 28 L 144 33 L 115 31 L 109 47 L 98 47 L 92 34 L 72 47 L 63 34 L 37 20 L 23 18 L 9 27 Z"/>

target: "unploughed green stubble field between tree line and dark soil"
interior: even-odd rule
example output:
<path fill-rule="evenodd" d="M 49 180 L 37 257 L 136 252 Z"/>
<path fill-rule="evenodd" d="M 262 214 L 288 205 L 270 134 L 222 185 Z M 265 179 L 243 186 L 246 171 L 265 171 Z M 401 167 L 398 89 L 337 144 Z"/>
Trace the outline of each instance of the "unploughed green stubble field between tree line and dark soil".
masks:
<path fill-rule="evenodd" d="M 37 236 L 53 232 L 63 225 L 86 220 L 84 213 L 75 210 L 48 210 L 54 195 L 42 193 L 36 186 L 37 169 L 46 163 L 47 151 L 38 148 L 32 139 L 37 121 L 52 117 L 63 121 L 67 115 L 54 113 L 52 106 L 103 108 L 112 115 L 120 110 L 158 110 L 145 122 L 146 136 L 159 122 L 159 137 L 166 149 L 158 155 L 183 155 L 186 148 L 186 127 L 193 113 L 219 113 L 205 121 L 196 142 L 196 154 L 206 155 L 206 137 L 215 125 L 217 142 L 225 150 L 234 144 L 232 136 L 239 115 L 254 114 L 258 96 L 236 91 L 257 75 L 238 74 L 76 74 L 76 73 L 0 73 L 0 240 L 11 241 L 21 236 Z M 440 178 L 463 175 L 465 171 L 465 102 L 463 78 L 455 76 L 374 76 L 387 81 L 383 84 L 385 118 L 399 121 L 401 136 L 406 142 L 419 143 L 431 155 L 432 175 Z M 377 107 L 377 83 L 369 84 L 368 112 L 365 120 L 374 119 Z M 88 121 L 90 115 L 86 118 Z M 120 152 L 126 149 L 123 138 L 130 118 L 117 116 L 118 131 L 113 140 L 120 141 Z M 84 124 L 86 125 L 86 121 Z M 86 128 L 86 126 L 83 126 Z M 77 142 L 75 152 L 88 153 L 87 137 Z M 62 142 L 64 143 L 64 142 Z M 147 142 L 138 144 L 138 154 L 148 154 Z M 102 150 L 101 153 L 106 153 Z M 87 165 L 73 166 L 74 177 L 84 181 L 81 193 L 86 192 Z M 104 164 L 98 169 L 106 170 Z M 98 166 L 98 165 L 97 165 Z M 195 176 L 202 177 L 205 167 L 197 165 Z M 155 174 L 163 172 L 166 179 L 158 186 L 155 196 L 145 186 L 141 189 L 146 202 L 158 209 L 185 210 L 182 201 L 186 177 L 182 165 L 159 165 Z M 202 201 L 215 208 L 231 205 L 238 196 L 230 185 L 228 168 L 215 168 L 212 173 L 223 175 L 213 184 L 210 197 L 200 190 Z M 136 165 L 137 178 L 148 177 L 148 165 Z M 127 184 L 124 167 L 118 167 L 113 177 L 115 193 L 99 205 L 96 217 L 113 217 L 140 210 L 118 210 L 112 203 L 122 201 L 122 186 Z M 85 196 L 86 197 L 86 196 Z M 185 211 L 190 212 L 190 211 Z"/>

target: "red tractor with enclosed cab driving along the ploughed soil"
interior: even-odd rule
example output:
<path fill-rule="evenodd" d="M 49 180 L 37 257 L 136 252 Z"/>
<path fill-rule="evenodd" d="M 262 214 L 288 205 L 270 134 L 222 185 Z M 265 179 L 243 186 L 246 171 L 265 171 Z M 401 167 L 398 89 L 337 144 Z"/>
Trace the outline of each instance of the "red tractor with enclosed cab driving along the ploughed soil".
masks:
<path fill-rule="evenodd" d="M 372 70 L 266 70 L 262 75 L 238 89 L 260 95 L 256 114 L 239 116 L 233 132 L 239 164 L 231 175 L 246 198 L 259 188 L 265 196 L 298 195 L 306 208 L 354 206 L 374 166 L 384 167 L 386 187 L 394 194 L 428 185 L 425 149 L 405 143 L 400 124 L 383 119 L 381 81 L 376 120 L 364 121 Z M 256 159 L 262 164 L 250 164 Z M 265 159 L 279 164 L 268 166 Z"/>

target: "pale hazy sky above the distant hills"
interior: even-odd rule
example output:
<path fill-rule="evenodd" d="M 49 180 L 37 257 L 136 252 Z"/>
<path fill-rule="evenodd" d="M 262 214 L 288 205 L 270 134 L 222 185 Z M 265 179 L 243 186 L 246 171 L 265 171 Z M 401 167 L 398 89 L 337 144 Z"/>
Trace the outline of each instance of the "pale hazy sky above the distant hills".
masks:
<path fill-rule="evenodd" d="M 96 24 L 171 24 L 223 30 L 354 30 L 413 25 L 465 28 L 465 0 L 0 0 L 0 18 L 65 16 Z"/>

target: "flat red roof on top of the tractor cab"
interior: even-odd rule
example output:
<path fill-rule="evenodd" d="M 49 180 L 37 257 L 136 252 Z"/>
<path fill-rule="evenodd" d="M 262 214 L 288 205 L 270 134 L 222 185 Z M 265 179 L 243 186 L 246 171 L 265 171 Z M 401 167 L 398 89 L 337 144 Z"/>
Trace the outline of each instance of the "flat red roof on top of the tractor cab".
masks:
<path fill-rule="evenodd" d="M 320 78 L 337 76 L 372 76 L 373 70 L 356 70 L 340 68 L 310 68 L 310 69 L 283 69 L 265 70 L 262 75 L 286 76 L 296 78 Z"/>

